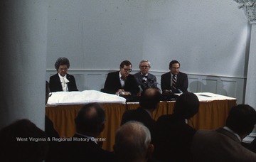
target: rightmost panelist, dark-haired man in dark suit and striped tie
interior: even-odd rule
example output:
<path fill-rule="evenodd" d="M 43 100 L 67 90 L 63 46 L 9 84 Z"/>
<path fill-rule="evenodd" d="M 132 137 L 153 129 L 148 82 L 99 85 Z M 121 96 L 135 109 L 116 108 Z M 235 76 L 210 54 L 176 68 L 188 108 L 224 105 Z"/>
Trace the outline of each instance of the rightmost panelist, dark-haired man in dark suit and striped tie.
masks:
<path fill-rule="evenodd" d="M 170 72 L 161 75 L 161 90 L 165 92 L 181 93 L 188 92 L 188 75 L 180 72 L 181 64 L 172 60 L 169 64 Z"/>

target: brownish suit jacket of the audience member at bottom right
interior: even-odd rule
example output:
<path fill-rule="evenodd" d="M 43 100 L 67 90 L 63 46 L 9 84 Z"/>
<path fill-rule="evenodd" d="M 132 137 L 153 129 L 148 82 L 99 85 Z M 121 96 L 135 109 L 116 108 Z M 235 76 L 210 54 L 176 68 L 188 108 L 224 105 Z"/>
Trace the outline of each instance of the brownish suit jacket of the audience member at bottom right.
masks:
<path fill-rule="evenodd" d="M 223 128 L 199 130 L 193 137 L 191 161 L 256 161 L 256 153 Z"/>

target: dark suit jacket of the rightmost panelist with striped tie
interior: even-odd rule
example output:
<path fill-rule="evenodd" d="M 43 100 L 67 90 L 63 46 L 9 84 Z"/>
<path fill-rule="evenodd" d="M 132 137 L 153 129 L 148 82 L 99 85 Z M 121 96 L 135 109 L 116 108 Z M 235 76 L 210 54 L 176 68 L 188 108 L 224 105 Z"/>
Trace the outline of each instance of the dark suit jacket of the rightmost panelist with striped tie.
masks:
<path fill-rule="evenodd" d="M 188 75 L 186 75 L 186 73 L 178 72 L 177 87 L 182 92 L 188 92 Z M 171 72 L 166 72 L 161 75 L 161 90 L 172 90 L 174 93 L 177 92 L 171 87 Z"/>

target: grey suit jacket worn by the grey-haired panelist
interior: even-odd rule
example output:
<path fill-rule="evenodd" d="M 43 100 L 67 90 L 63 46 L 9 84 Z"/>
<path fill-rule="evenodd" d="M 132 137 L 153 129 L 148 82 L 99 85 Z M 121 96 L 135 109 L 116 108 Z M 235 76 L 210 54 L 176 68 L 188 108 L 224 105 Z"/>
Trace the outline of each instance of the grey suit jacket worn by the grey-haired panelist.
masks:
<path fill-rule="evenodd" d="M 156 83 L 156 76 L 148 73 L 147 75 L 147 82 L 144 82 L 143 75 L 141 72 L 137 72 L 134 74 L 134 77 L 137 80 L 137 85 L 140 85 L 142 87 L 142 90 L 144 90 L 146 87 L 157 87 Z"/>

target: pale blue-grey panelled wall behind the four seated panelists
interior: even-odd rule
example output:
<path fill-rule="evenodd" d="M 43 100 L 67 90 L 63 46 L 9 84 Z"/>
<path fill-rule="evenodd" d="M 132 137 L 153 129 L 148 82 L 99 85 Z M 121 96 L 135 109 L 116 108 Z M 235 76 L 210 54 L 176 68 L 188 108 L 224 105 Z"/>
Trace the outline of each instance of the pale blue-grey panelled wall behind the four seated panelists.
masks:
<path fill-rule="evenodd" d="M 48 9 L 47 79 L 60 56 L 70 59 L 70 73 L 79 73 L 83 90 L 105 82 L 85 80 L 85 73 L 118 70 L 122 60 L 138 70 L 139 61 L 149 59 L 159 76 L 179 60 L 181 71 L 193 76 L 190 82 L 217 78 L 205 90 L 243 102 L 250 30 L 235 1 L 55 0 Z M 230 83 L 220 86 L 225 77 Z"/>

